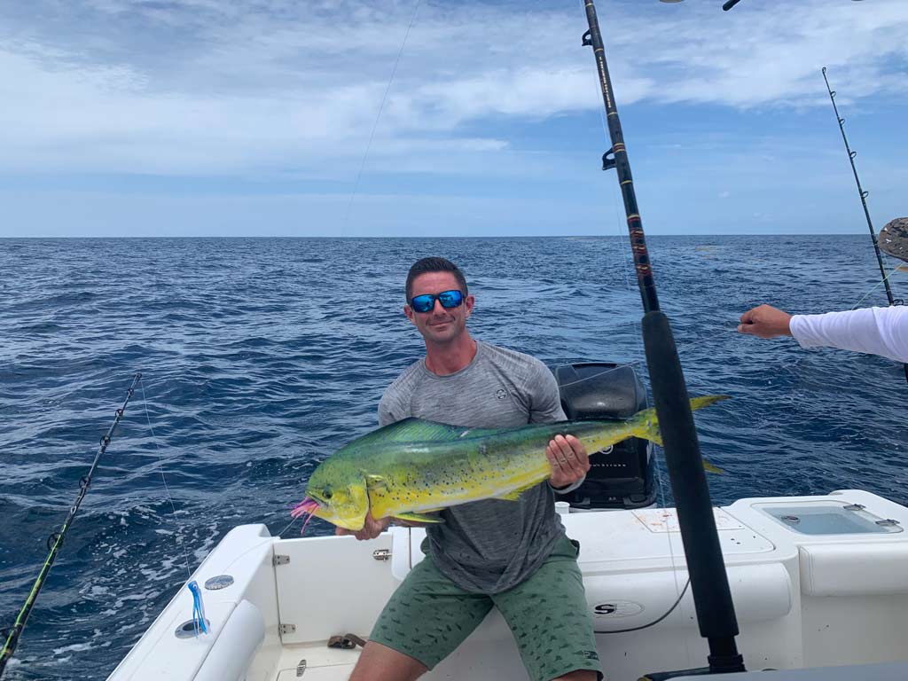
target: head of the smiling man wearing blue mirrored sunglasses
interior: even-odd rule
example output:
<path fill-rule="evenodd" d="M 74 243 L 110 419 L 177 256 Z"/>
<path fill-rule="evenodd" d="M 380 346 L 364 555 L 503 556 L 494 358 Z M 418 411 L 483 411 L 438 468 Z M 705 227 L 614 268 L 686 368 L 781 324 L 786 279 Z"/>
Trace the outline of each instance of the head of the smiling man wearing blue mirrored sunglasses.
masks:
<path fill-rule="evenodd" d="M 426 340 L 447 344 L 461 337 L 473 310 L 463 272 L 444 258 L 423 258 L 407 274 L 404 313 Z"/>

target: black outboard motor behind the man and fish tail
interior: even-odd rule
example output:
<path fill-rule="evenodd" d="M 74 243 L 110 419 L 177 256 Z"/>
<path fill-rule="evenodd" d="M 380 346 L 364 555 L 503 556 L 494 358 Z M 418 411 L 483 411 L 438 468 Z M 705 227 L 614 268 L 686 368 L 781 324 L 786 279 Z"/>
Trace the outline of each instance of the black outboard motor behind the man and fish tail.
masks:
<path fill-rule="evenodd" d="M 582 362 L 556 367 L 561 406 L 570 420 L 627 419 L 646 409 L 646 390 L 628 364 Z M 656 499 L 652 445 L 645 439 L 618 442 L 609 453 L 590 456 L 583 485 L 559 501 L 571 508 L 641 508 Z"/>

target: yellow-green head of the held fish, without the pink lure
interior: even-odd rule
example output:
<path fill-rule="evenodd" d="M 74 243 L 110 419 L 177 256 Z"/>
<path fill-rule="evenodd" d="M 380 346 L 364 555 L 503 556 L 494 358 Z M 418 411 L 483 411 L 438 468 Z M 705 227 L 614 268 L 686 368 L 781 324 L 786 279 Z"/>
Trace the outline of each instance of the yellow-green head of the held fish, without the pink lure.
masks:
<path fill-rule="evenodd" d="M 359 530 L 369 512 L 369 489 L 359 470 L 328 459 L 312 473 L 306 497 L 318 504 L 312 515 L 344 529 Z"/>

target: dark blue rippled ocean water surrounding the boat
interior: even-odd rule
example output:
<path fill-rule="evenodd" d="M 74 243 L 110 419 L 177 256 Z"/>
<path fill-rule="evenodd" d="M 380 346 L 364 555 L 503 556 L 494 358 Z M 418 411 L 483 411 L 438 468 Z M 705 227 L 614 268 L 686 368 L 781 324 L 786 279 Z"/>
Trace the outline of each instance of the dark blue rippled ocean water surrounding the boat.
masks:
<path fill-rule="evenodd" d="M 649 245 L 689 390 L 733 397 L 697 414 L 726 471 L 716 503 L 848 488 L 908 503 L 901 366 L 735 333 L 760 302 L 884 304 L 866 235 Z M 317 462 L 375 427 L 382 390 L 419 358 L 402 282 L 429 254 L 466 271 L 478 338 L 549 364 L 634 362 L 646 381 L 626 238 L 0 240 L 0 626 L 143 373 L 7 678 L 106 677 L 187 559 L 240 523 L 286 528 Z"/>

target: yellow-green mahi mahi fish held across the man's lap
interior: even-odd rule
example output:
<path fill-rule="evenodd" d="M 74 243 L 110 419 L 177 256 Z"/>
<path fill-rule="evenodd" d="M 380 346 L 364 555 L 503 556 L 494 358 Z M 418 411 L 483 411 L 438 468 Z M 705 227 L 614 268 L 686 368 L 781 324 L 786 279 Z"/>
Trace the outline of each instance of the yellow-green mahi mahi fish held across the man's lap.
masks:
<path fill-rule="evenodd" d="M 690 400 L 692 410 L 726 395 Z M 637 437 L 662 444 L 656 410 L 625 420 L 533 423 L 517 428 L 480 429 L 423 419 L 403 419 L 373 430 L 325 459 L 306 485 L 294 518 L 323 518 L 340 528 L 362 529 L 372 518 L 441 522 L 427 515 L 469 501 L 517 500 L 551 475 L 548 441 L 571 434 L 589 452 Z M 709 466 L 707 465 L 707 469 Z M 305 527 L 303 527 L 305 529 Z"/>

